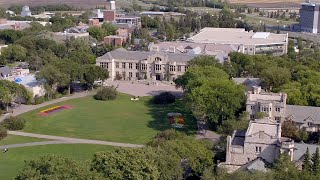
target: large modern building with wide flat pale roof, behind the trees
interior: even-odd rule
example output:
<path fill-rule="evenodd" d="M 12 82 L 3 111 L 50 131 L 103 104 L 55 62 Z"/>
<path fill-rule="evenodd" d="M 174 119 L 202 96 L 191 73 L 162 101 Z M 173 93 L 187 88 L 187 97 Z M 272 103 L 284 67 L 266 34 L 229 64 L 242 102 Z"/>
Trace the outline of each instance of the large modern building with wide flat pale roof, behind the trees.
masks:
<path fill-rule="evenodd" d="M 248 32 L 241 28 L 204 28 L 187 42 L 239 46 L 239 52 L 249 55 L 280 56 L 288 51 L 288 34 Z"/>

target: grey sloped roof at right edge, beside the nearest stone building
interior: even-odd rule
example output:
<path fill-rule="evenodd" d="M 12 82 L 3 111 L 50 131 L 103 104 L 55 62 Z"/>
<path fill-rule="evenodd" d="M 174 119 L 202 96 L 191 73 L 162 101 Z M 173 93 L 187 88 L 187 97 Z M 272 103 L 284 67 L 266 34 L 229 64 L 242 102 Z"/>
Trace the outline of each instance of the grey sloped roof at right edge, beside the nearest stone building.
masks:
<path fill-rule="evenodd" d="M 312 155 L 316 152 L 316 149 L 320 149 L 320 145 L 316 144 L 305 144 L 305 143 L 294 143 L 295 150 L 293 152 L 293 160 L 299 161 L 304 157 L 304 154 L 309 149 L 309 154 Z"/>

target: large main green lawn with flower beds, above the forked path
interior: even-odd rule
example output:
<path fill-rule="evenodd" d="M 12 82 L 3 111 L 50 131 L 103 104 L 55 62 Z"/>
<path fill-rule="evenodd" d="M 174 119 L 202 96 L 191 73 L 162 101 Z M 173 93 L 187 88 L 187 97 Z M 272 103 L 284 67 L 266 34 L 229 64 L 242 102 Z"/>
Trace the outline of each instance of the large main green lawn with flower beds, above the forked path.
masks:
<path fill-rule="evenodd" d="M 153 105 L 151 97 L 131 101 L 132 96 L 119 94 L 114 101 L 98 101 L 92 96 L 64 101 L 21 115 L 27 120 L 25 132 L 97 139 L 114 142 L 144 144 L 159 131 L 170 128 L 166 119 L 168 112 L 180 112 L 189 123 L 192 133 L 193 118 L 184 110 L 181 101 L 171 105 Z M 41 110 L 57 105 L 71 105 L 48 116 L 40 116 Z"/>

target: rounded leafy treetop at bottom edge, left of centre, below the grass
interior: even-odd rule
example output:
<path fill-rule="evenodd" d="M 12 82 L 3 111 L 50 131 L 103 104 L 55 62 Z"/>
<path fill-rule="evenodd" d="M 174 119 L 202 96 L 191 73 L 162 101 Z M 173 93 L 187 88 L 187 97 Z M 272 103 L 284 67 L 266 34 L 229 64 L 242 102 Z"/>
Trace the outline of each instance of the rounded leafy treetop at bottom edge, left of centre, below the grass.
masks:
<path fill-rule="evenodd" d="M 16 177 L 22 179 L 101 179 L 98 173 L 72 159 L 56 155 L 41 156 L 37 160 L 27 161 Z"/>

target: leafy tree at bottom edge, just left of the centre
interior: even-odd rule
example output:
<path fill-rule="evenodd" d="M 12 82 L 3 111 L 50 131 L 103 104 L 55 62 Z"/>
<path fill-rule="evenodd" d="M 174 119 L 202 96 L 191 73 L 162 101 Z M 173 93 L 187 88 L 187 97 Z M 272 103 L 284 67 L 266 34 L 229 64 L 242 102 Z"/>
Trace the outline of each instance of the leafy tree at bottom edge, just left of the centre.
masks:
<path fill-rule="evenodd" d="M 151 148 L 119 148 L 114 152 L 98 152 L 91 168 L 108 179 L 158 179 L 159 171 L 148 156 Z"/>

